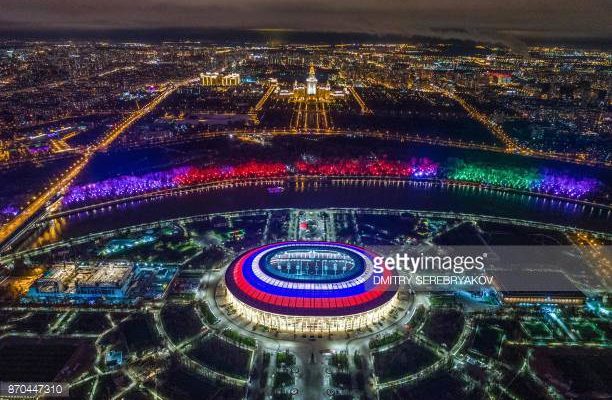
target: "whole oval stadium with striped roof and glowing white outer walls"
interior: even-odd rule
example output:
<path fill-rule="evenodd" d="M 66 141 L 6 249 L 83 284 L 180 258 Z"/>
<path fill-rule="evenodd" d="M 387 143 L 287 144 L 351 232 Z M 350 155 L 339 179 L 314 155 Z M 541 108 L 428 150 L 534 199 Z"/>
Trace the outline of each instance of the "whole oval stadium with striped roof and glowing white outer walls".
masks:
<path fill-rule="evenodd" d="M 225 273 L 228 303 L 243 318 L 281 331 L 336 332 L 383 319 L 397 288 L 376 273 L 375 254 L 330 242 L 283 242 L 250 250 Z"/>

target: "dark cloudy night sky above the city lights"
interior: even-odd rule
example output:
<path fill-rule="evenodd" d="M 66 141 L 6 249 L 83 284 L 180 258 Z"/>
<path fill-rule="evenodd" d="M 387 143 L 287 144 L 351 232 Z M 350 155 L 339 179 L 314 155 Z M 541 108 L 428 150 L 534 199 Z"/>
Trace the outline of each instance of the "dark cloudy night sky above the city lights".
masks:
<path fill-rule="evenodd" d="M 2 0 L 0 29 L 282 29 L 424 35 L 515 45 L 612 37 L 610 0 Z"/>

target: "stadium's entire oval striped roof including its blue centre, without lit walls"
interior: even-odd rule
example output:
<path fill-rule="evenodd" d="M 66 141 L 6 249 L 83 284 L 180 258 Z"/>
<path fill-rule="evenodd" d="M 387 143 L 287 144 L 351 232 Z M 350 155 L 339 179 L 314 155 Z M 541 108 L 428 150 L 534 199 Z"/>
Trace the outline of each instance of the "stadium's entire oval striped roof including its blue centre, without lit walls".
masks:
<path fill-rule="evenodd" d="M 234 260 L 225 273 L 228 290 L 241 302 L 270 313 L 342 316 L 367 312 L 393 298 L 397 287 L 379 282 L 376 255 L 332 242 L 281 242 Z"/>

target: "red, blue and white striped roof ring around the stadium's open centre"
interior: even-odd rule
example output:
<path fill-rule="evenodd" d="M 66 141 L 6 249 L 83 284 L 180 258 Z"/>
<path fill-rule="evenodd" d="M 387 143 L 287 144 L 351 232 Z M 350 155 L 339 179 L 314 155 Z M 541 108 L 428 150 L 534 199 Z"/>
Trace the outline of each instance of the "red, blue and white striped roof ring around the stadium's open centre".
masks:
<path fill-rule="evenodd" d="M 363 260 L 362 270 L 346 280 L 304 281 L 284 279 L 270 273 L 266 254 L 291 248 L 333 250 Z M 374 284 L 374 277 L 391 271 L 373 271 L 376 255 L 364 248 L 331 242 L 281 242 L 261 246 L 238 257 L 225 275 L 228 290 L 241 302 L 256 309 L 292 316 L 342 316 L 367 312 L 389 301 L 397 288 Z"/>

